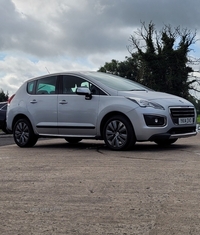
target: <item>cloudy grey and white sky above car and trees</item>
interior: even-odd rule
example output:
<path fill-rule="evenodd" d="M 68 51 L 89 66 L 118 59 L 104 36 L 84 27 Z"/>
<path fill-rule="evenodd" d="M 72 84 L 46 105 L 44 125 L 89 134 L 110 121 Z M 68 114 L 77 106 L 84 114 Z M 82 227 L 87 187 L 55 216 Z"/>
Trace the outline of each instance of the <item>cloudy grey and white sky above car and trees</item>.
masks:
<path fill-rule="evenodd" d="M 200 39 L 200 1 L 0 0 L 0 89 L 11 96 L 33 77 L 123 61 L 130 36 L 151 21 Z M 200 41 L 192 49 L 200 58 Z"/>

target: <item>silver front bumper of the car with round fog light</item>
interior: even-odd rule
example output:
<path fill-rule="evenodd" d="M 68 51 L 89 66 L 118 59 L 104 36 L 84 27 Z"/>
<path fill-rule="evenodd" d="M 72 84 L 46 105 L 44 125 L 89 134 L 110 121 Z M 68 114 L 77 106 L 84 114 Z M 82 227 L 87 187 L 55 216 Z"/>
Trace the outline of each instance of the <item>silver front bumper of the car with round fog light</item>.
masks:
<path fill-rule="evenodd" d="M 182 109 L 178 109 L 178 111 L 181 113 L 181 115 L 179 115 L 180 117 L 182 117 L 182 115 L 183 117 L 188 117 L 189 115 L 187 113 L 187 115 L 184 116 L 184 113 L 182 114 Z M 185 108 L 183 108 L 183 111 L 185 111 Z M 172 118 L 168 108 L 165 110 L 138 108 L 128 113 L 128 117 L 134 128 L 136 141 L 139 142 L 154 141 L 160 138 L 184 138 L 196 135 L 196 113 L 193 112 L 192 124 L 179 124 L 179 116 L 177 116 L 177 118 Z M 152 117 L 152 119 L 150 117 Z"/>

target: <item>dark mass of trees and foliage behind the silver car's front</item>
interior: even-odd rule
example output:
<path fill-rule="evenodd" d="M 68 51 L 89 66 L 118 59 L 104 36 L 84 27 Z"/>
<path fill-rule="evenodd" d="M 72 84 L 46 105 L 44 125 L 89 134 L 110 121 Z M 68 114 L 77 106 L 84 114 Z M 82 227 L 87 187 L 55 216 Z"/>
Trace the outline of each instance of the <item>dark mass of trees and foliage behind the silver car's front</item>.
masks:
<path fill-rule="evenodd" d="M 191 79 L 193 71 L 189 66 L 188 53 L 194 44 L 196 31 L 165 25 L 159 32 L 150 22 L 130 37 L 128 51 L 130 57 L 125 61 L 112 60 L 99 69 L 132 80 L 136 80 L 154 90 L 168 92 L 191 99 L 189 91 L 195 90 L 196 78 Z"/>

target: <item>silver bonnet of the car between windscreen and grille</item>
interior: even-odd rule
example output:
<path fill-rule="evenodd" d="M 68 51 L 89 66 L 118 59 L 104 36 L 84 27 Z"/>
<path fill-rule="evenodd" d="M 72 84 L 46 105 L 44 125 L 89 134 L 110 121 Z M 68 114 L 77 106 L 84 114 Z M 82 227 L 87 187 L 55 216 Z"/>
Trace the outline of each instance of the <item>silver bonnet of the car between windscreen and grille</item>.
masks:
<path fill-rule="evenodd" d="M 179 96 L 171 95 L 164 92 L 157 91 L 119 91 L 118 95 L 122 95 L 125 97 L 141 98 L 149 101 L 154 101 L 161 105 L 185 105 L 185 106 L 193 106 L 188 100 L 181 98 Z"/>

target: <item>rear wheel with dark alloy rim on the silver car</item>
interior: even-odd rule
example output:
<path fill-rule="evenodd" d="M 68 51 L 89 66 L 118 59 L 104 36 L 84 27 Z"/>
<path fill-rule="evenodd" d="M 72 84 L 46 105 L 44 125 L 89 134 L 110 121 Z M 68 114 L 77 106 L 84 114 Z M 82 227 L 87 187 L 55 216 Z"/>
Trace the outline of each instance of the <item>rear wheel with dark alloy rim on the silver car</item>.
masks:
<path fill-rule="evenodd" d="M 32 147 L 36 144 L 38 136 L 34 134 L 33 128 L 27 119 L 19 119 L 13 128 L 15 143 L 23 147 Z"/>

